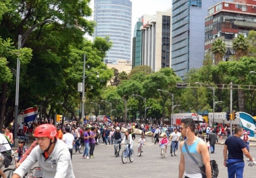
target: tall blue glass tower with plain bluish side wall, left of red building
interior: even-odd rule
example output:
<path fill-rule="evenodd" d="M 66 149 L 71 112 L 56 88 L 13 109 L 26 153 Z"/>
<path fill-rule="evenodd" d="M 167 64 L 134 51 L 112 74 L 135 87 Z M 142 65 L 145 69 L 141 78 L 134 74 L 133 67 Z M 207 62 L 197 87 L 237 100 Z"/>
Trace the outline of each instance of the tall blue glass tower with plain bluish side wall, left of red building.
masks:
<path fill-rule="evenodd" d="M 204 58 L 207 9 L 222 0 L 172 0 L 172 69 L 184 79 Z"/>

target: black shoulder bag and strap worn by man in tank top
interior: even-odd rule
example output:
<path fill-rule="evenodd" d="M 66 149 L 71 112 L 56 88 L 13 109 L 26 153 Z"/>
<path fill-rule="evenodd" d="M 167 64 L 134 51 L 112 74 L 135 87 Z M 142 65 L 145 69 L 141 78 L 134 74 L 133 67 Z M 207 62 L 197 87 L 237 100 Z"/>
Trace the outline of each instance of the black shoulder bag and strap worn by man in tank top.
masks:
<path fill-rule="evenodd" d="M 196 161 L 196 159 L 190 154 L 189 152 L 189 148 L 187 147 L 187 143 L 186 140 L 184 142 L 185 144 L 185 148 L 187 151 L 187 154 L 189 154 L 189 157 L 191 157 L 191 159 L 195 162 L 195 164 L 199 167 L 198 162 Z M 218 168 L 218 164 L 216 163 L 215 160 L 211 160 L 210 161 L 210 165 L 211 165 L 211 171 L 212 171 L 212 178 L 217 178 L 218 174 L 219 174 L 219 168 Z M 201 174 L 202 174 L 202 178 L 206 178 L 206 173 L 205 173 L 205 165 L 203 165 L 202 167 L 199 167 Z"/>

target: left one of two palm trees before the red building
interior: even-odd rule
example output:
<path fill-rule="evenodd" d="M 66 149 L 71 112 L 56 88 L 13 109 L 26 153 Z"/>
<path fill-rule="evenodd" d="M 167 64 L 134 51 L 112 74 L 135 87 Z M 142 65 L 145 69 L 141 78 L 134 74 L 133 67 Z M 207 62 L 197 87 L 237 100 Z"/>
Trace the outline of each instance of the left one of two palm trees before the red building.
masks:
<path fill-rule="evenodd" d="M 222 61 L 222 58 L 226 52 L 226 44 L 222 40 L 218 39 L 212 44 L 212 53 L 214 54 L 214 64 L 218 64 Z"/>

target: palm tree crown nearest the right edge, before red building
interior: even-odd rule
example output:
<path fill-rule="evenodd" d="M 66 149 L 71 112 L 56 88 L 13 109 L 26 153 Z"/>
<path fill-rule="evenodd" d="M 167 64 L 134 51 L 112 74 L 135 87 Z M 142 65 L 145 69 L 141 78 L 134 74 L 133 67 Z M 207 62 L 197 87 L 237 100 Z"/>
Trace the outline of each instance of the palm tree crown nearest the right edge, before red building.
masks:
<path fill-rule="evenodd" d="M 233 49 L 236 51 L 236 60 L 238 61 L 242 56 L 249 52 L 249 42 L 243 34 L 239 34 L 232 42 Z"/>

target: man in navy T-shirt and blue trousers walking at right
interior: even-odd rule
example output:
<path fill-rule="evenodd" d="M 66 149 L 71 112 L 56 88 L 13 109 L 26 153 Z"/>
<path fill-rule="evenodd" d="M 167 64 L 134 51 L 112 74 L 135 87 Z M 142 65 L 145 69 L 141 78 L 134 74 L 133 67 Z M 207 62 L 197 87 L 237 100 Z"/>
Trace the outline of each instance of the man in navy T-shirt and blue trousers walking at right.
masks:
<path fill-rule="evenodd" d="M 255 164 L 253 157 L 251 157 L 246 148 L 245 142 L 240 138 L 241 136 L 243 136 L 243 128 L 236 126 L 234 128 L 234 136 L 229 136 L 224 144 L 224 167 L 228 167 L 228 178 L 243 178 L 245 167 L 243 154 L 249 159 L 249 166 Z"/>

